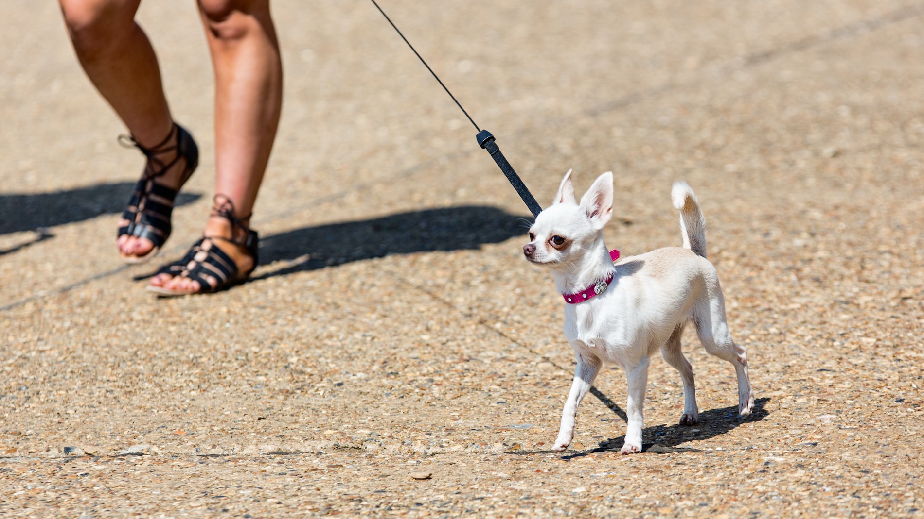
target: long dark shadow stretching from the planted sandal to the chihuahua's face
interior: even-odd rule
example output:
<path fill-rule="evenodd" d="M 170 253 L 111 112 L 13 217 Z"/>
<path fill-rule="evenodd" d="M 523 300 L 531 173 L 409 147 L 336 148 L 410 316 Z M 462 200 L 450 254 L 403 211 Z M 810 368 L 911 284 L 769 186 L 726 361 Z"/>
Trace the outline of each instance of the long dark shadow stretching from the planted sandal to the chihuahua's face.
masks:
<path fill-rule="evenodd" d="M 261 265 L 288 265 L 250 280 L 389 254 L 475 250 L 525 234 L 529 221 L 497 207 L 456 206 L 289 230 L 260 241 Z"/>

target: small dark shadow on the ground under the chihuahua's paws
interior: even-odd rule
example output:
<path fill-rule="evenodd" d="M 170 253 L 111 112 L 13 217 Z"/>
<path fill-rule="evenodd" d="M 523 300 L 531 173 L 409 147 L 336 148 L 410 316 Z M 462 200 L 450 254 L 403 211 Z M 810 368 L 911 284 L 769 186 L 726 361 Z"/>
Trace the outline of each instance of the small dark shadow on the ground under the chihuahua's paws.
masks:
<path fill-rule="evenodd" d="M 731 431 L 741 424 L 760 421 L 766 418 L 770 411 L 765 406 L 770 402 L 769 397 L 757 398 L 754 400 L 754 407 L 748 417 L 738 417 L 738 407 L 720 407 L 710 409 L 699 413 L 699 423 L 694 426 L 687 425 L 653 425 L 642 430 L 642 438 L 649 440 L 649 443 L 642 443 L 641 452 L 650 454 L 671 454 L 671 453 L 699 453 L 702 449 L 695 446 L 679 447 L 678 445 L 687 442 L 699 442 L 709 440 L 728 431 Z M 620 414 L 617 412 L 617 414 Z M 620 418 L 625 418 L 620 414 Z M 621 423 L 621 422 L 620 422 Z M 596 448 L 582 451 L 572 451 L 562 456 L 563 459 L 573 459 L 586 456 L 593 453 L 603 453 L 607 451 L 619 452 L 626 436 L 610 438 L 600 442 Z M 517 451 L 510 454 L 559 454 L 554 451 Z"/>

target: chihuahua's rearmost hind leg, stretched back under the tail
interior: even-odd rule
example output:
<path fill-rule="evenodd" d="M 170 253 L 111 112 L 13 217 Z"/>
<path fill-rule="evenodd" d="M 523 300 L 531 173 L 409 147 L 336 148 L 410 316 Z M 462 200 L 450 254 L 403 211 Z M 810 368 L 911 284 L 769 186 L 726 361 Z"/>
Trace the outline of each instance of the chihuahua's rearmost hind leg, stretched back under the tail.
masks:
<path fill-rule="evenodd" d="M 728 332 L 722 292 L 710 301 L 703 301 L 697 305 L 693 310 L 693 319 L 703 348 L 735 366 L 738 377 L 738 413 L 741 416 L 749 415 L 754 407 L 754 393 L 748 376 L 748 352 L 744 347 L 735 344 Z"/>

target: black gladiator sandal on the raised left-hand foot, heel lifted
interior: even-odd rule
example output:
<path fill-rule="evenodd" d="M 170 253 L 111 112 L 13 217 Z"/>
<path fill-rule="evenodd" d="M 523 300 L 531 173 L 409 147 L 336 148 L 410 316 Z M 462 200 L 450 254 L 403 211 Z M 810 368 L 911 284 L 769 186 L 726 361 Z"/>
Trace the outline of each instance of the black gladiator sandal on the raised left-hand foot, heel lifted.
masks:
<path fill-rule="evenodd" d="M 176 144 L 166 146 L 176 136 Z M 199 147 L 189 132 L 179 124 L 174 123 L 173 128 L 164 142 L 154 147 L 142 147 L 133 136 L 119 136 L 119 144 L 125 147 L 137 147 L 148 158 L 144 166 L 141 179 L 135 184 L 135 190 L 128 199 L 128 205 L 122 213 L 122 219 L 128 221 L 127 225 L 119 227 L 117 237 L 123 235 L 137 236 L 150 240 L 154 247 L 143 256 L 122 255 L 126 263 L 141 263 L 151 259 L 157 254 L 173 229 L 170 225 L 170 214 L 173 212 L 173 203 L 178 189 L 174 190 L 165 185 L 155 183 L 154 179 L 163 176 L 179 160 L 186 160 L 183 174 L 180 176 L 180 187 L 183 186 L 192 172 L 199 165 Z M 157 156 L 176 149 L 176 158 L 164 163 Z"/>

